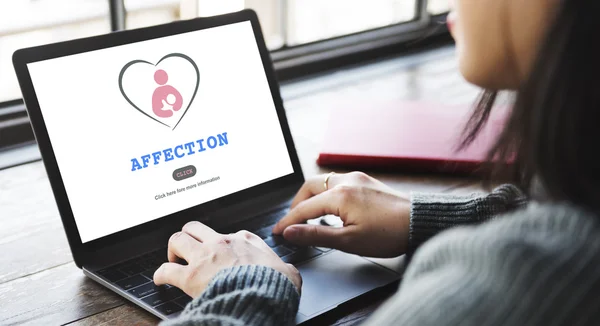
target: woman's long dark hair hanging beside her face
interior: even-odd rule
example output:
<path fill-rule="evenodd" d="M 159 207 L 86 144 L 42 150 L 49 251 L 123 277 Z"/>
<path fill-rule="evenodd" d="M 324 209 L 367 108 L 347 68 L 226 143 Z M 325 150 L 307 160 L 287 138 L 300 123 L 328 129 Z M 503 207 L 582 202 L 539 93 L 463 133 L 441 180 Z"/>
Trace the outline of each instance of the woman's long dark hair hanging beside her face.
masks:
<path fill-rule="evenodd" d="M 524 190 L 540 181 L 546 198 L 600 211 L 600 1 L 563 0 L 489 161 Z M 467 123 L 463 147 L 487 122 L 486 91 Z"/>

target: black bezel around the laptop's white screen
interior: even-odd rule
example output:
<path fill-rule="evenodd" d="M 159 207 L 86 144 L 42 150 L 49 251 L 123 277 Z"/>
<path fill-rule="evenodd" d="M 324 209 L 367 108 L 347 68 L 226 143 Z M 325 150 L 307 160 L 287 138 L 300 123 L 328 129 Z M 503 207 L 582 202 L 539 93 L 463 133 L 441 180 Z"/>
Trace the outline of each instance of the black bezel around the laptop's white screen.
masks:
<path fill-rule="evenodd" d="M 52 149 L 52 143 L 46 129 L 46 124 L 40 110 L 37 95 L 35 93 L 31 76 L 27 68 L 27 64 L 176 34 L 235 24 L 244 21 L 250 21 L 252 25 L 256 44 L 260 52 L 264 72 L 267 77 L 294 172 L 287 176 L 259 184 L 252 188 L 238 191 L 236 193 L 196 205 L 183 211 L 163 216 L 161 218 L 110 234 L 99 239 L 82 243 L 73 216 L 73 211 L 65 190 L 63 179 L 56 162 L 54 150 Z M 258 17 L 256 13 L 250 9 L 220 16 L 195 18 L 164 25 L 115 32 L 106 35 L 21 49 L 13 54 L 13 65 L 19 85 L 21 87 L 21 92 L 23 94 L 23 99 L 27 107 L 27 112 L 33 127 L 38 147 L 43 158 L 44 166 L 48 174 L 48 179 L 54 193 L 54 198 L 58 206 L 63 226 L 65 228 L 69 246 L 71 247 L 73 258 L 77 266 L 81 267 L 81 262 L 85 259 L 85 256 L 88 253 L 102 250 L 103 248 L 127 241 L 139 235 L 155 232 L 163 227 L 169 226 L 173 223 L 173 221 L 185 221 L 189 220 L 191 217 L 197 218 L 208 216 L 211 213 L 218 211 L 222 207 L 229 207 L 242 201 L 251 200 L 256 196 L 276 192 L 278 189 L 284 187 L 301 185 L 304 182 L 300 162 L 298 160 L 298 155 L 294 147 L 287 117 L 285 115 L 283 101 L 279 91 L 279 84 L 275 77 L 270 53 L 265 45 Z M 210 220 L 205 220 L 204 222 L 210 225 Z"/>

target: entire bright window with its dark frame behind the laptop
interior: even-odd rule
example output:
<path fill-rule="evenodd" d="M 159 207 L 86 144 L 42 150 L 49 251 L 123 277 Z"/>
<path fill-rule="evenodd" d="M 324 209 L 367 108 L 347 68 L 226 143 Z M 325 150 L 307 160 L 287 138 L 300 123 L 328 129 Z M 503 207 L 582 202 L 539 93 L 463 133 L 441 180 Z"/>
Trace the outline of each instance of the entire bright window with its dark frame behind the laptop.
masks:
<path fill-rule="evenodd" d="M 0 1 L 0 150 L 33 141 L 12 67 L 15 50 L 243 8 L 257 12 L 280 80 L 448 34 L 439 24 L 448 0 Z"/>

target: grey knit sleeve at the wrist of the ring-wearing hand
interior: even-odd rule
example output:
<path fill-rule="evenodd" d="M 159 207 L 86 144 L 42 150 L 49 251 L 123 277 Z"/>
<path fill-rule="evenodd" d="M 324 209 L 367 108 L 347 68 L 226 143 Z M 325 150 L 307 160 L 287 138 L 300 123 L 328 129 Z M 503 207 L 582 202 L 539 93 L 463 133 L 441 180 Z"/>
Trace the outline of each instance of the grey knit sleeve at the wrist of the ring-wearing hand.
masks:
<path fill-rule="evenodd" d="M 509 184 L 487 195 L 412 193 L 408 254 L 443 230 L 478 224 L 525 203 L 523 192 Z"/>

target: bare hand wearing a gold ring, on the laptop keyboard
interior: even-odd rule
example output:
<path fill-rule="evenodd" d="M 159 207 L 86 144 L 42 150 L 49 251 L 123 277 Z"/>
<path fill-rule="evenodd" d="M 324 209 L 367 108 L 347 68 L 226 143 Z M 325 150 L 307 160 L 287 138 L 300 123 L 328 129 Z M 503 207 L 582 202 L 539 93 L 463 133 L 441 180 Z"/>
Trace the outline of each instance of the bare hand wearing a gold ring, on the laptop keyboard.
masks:
<path fill-rule="evenodd" d="M 299 245 L 335 248 L 369 257 L 396 257 L 406 251 L 410 202 L 361 172 L 307 180 L 274 234 Z M 323 215 L 339 216 L 344 227 L 298 224 Z"/>

